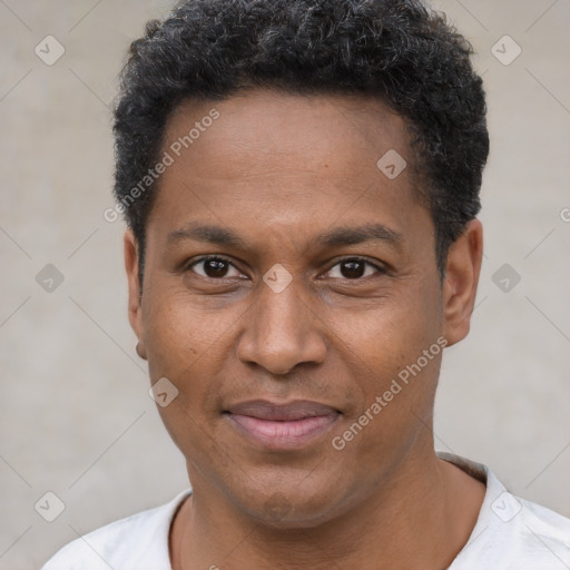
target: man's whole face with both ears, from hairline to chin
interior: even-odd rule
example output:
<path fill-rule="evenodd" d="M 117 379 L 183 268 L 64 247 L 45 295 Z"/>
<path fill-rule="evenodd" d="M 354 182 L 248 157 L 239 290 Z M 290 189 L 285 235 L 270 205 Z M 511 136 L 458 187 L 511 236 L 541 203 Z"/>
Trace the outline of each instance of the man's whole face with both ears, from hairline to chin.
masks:
<path fill-rule="evenodd" d="M 395 177 L 403 163 L 376 165 L 389 151 L 407 161 Z M 140 298 L 126 235 L 129 315 L 151 382 L 178 391 L 159 411 L 195 494 L 297 527 L 371 500 L 433 450 L 441 346 L 468 332 L 478 223 L 442 284 L 406 126 L 366 97 L 186 102 L 165 153 Z"/>

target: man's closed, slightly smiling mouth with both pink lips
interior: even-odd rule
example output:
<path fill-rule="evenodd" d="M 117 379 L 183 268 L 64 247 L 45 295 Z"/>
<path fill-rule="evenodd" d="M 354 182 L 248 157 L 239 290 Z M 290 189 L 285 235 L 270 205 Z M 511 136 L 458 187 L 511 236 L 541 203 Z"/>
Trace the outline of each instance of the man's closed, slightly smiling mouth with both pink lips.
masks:
<path fill-rule="evenodd" d="M 323 435 L 341 412 L 308 400 L 285 404 L 253 400 L 230 406 L 224 415 L 249 441 L 269 450 L 291 450 Z"/>

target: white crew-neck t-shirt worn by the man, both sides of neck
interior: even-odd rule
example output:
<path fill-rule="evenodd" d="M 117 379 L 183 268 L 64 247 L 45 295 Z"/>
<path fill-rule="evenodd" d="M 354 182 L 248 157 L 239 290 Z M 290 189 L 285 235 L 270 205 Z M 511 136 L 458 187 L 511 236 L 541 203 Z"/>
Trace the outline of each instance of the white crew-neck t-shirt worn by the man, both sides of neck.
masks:
<path fill-rule="evenodd" d="M 438 455 L 487 483 L 475 528 L 448 570 L 570 568 L 570 519 L 512 495 L 485 465 Z M 42 570 L 170 570 L 170 523 L 189 493 L 70 542 Z"/>

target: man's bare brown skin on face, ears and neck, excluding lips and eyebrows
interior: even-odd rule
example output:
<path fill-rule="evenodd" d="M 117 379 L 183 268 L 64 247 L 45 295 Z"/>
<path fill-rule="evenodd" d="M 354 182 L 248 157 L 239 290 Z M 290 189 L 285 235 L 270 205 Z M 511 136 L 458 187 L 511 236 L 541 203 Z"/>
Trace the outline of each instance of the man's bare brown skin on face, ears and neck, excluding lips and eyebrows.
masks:
<path fill-rule="evenodd" d="M 169 118 L 163 150 L 213 107 L 219 118 L 160 178 L 141 295 L 137 242 L 125 235 L 139 353 L 153 383 L 166 376 L 179 391 L 159 407 L 193 487 L 173 523 L 173 567 L 446 568 L 484 485 L 433 451 L 441 353 L 342 451 L 332 440 L 439 337 L 465 337 L 480 222 L 450 248 L 442 282 L 406 125 L 381 101 L 262 89 L 187 101 Z M 376 167 L 389 149 L 409 163 L 393 180 Z M 197 224 L 246 245 L 183 236 Z M 316 239 L 366 224 L 399 242 Z M 213 278 L 196 263 L 202 255 L 229 264 Z M 366 264 L 341 263 L 354 256 Z M 275 264 L 293 278 L 279 293 L 263 281 Z M 272 451 L 223 414 L 253 399 L 313 400 L 341 413 L 307 445 Z"/>

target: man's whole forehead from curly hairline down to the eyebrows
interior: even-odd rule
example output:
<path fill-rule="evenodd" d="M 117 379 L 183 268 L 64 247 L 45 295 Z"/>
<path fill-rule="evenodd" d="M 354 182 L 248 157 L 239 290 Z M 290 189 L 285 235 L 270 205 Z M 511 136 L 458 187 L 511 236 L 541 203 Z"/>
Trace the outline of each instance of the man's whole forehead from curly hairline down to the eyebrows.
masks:
<path fill-rule="evenodd" d="M 149 224 L 168 234 L 195 219 L 307 238 L 347 220 L 401 232 L 417 214 L 406 124 L 371 97 L 258 89 L 188 100 L 169 117 L 161 153 L 171 165 Z M 401 158 L 399 176 L 379 168 L 385 156 Z"/>

